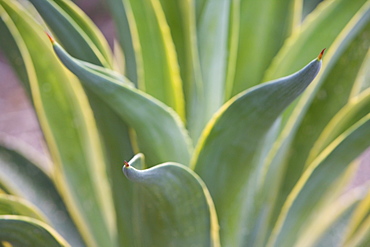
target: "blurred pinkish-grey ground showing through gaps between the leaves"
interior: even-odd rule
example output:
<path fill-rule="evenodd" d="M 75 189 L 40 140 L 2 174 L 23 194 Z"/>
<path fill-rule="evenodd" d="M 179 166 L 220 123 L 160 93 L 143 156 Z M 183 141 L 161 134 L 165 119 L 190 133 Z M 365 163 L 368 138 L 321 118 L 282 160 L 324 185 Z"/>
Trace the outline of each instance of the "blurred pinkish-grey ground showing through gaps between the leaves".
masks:
<path fill-rule="evenodd" d="M 104 1 L 75 0 L 74 2 L 95 22 L 112 47 L 115 37 L 114 26 Z M 305 1 L 307 6 L 304 8 L 306 10 L 304 15 L 314 9 L 318 2 L 320 0 Z M 1 51 L 0 75 L 0 133 L 20 139 L 48 156 L 31 102 Z M 360 159 L 361 165 L 351 187 L 370 181 L 370 149 Z"/>

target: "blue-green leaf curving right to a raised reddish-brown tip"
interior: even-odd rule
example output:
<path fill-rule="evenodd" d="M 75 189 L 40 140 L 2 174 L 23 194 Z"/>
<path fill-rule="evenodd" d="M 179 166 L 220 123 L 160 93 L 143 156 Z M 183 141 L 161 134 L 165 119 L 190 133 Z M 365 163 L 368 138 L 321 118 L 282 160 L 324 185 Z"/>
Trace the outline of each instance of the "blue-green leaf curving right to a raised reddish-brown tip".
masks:
<path fill-rule="evenodd" d="M 315 78 L 321 67 L 320 59 L 321 56 L 289 77 L 237 95 L 203 132 L 192 165 L 214 199 L 223 245 L 243 245 L 238 243 L 238 237 L 245 231 L 244 226 L 239 225 L 245 222 L 241 205 L 251 174 L 258 169 L 253 160 L 257 158 L 259 143 L 285 107 Z"/>

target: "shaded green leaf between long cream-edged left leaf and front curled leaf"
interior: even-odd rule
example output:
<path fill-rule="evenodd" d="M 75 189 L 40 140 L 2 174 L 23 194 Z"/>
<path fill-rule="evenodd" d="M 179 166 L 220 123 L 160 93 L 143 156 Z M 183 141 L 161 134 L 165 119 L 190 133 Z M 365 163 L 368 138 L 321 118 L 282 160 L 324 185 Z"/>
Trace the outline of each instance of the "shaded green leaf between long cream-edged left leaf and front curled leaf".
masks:
<path fill-rule="evenodd" d="M 106 165 L 115 206 L 117 233 L 119 233 L 117 234 L 118 246 L 134 246 L 132 238 L 134 219 L 131 212 L 135 205 L 132 203 L 134 200 L 132 184 L 119 172 L 122 161 L 133 155 L 129 136 L 132 129 L 129 129 L 116 112 L 108 106 L 104 108 L 101 106 L 99 102 L 92 104 L 95 117 L 99 119 L 97 121 L 104 142 Z"/>

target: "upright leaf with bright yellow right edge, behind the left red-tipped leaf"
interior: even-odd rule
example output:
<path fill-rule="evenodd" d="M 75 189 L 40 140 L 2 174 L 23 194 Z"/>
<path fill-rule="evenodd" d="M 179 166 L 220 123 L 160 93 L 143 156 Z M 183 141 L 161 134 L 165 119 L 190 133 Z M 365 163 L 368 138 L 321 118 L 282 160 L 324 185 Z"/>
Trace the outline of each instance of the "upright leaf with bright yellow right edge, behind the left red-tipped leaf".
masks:
<path fill-rule="evenodd" d="M 136 52 L 138 86 L 185 120 L 179 65 L 159 0 L 123 0 Z"/>

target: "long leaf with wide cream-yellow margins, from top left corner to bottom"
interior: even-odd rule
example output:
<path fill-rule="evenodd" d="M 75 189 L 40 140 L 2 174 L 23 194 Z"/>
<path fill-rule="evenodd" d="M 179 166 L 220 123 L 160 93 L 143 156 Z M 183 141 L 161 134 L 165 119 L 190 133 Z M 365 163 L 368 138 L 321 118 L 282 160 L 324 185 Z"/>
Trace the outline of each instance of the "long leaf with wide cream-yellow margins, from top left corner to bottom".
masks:
<path fill-rule="evenodd" d="M 22 58 L 56 164 L 57 186 L 67 198 L 67 207 L 72 209 L 85 241 L 91 246 L 114 246 L 112 198 L 86 96 L 76 78 L 57 60 L 37 23 L 16 3 L 2 0 L 1 5 L 22 34 L 17 42 L 24 42 L 29 52 Z"/>

